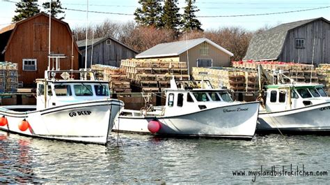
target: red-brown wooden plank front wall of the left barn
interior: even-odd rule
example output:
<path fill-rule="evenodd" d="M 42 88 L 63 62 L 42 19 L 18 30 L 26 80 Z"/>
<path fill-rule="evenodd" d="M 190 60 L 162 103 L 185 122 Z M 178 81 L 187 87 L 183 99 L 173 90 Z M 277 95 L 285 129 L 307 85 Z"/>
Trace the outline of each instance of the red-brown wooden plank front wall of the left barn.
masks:
<path fill-rule="evenodd" d="M 36 78 L 44 77 L 48 66 L 49 18 L 45 15 L 33 17 L 17 25 L 5 53 L 5 61 L 18 64 L 19 81 L 24 86 L 34 86 Z M 65 54 L 61 69 L 71 68 L 72 36 L 66 24 L 52 19 L 51 52 Z M 73 69 L 78 69 L 78 50 L 74 50 Z M 37 71 L 23 71 L 22 59 L 37 59 Z"/>

